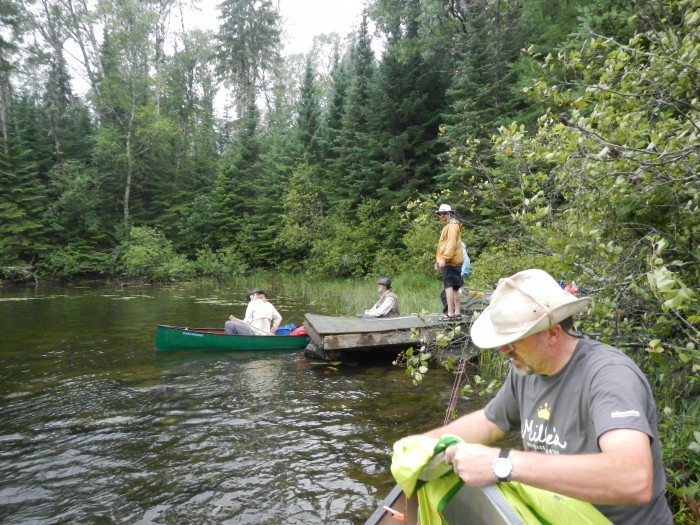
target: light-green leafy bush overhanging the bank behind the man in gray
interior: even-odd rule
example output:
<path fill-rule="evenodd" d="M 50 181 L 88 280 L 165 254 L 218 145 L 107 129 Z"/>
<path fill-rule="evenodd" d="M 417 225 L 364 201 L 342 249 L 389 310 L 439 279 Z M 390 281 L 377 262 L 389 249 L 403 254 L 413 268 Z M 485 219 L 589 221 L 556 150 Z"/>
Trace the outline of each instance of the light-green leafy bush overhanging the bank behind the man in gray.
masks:
<path fill-rule="evenodd" d="M 684 413 L 680 400 L 700 391 L 700 42 L 691 36 L 700 6 L 665 8 L 666 18 L 628 44 L 592 37 L 544 60 L 528 93 L 551 110 L 535 134 L 514 123 L 494 141 L 495 158 L 514 166 L 516 177 L 500 184 L 504 172 L 492 170 L 476 187 L 491 202 L 517 189 L 508 199 L 511 232 L 474 267 L 477 279 L 491 282 L 490 267 L 505 275 L 538 266 L 575 279 L 595 298 L 584 330 L 645 349 L 634 357 L 657 399 Z M 669 381 L 672 391 L 664 388 Z M 662 448 L 683 439 L 676 432 L 682 436 L 668 429 Z M 672 477 L 692 507 L 697 477 Z M 678 522 L 689 515 L 686 509 Z"/>

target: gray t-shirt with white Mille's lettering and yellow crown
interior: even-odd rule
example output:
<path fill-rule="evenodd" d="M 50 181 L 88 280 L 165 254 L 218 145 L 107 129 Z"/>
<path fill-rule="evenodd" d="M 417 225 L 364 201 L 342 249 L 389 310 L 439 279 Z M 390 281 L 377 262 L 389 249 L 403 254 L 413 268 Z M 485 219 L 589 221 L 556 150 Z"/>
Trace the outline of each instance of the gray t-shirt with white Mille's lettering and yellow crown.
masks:
<path fill-rule="evenodd" d="M 673 524 L 651 388 L 637 365 L 616 348 L 584 338 L 555 375 L 518 376 L 511 370 L 485 413 L 503 432 L 520 427 L 524 449 L 544 454 L 600 452 L 598 438 L 608 430 L 644 432 L 654 466 L 652 500 L 596 507 L 617 525 Z"/>

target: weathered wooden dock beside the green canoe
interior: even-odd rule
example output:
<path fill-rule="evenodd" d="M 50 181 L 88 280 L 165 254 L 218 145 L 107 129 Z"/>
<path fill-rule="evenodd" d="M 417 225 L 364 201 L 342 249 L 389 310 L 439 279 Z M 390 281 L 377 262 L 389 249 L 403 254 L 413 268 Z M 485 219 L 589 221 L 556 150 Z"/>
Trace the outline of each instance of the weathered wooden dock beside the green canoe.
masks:
<path fill-rule="evenodd" d="M 475 310 L 488 305 L 491 293 L 486 290 L 465 289 L 462 293 L 462 323 L 471 322 Z M 334 317 L 306 314 L 305 322 L 311 342 L 304 354 L 313 359 L 326 361 L 342 360 L 349 354 L 368 352 L 400 352 L 415 344 L 416 330 L 426 331 L 454 326 L 455 321 L 439 321 L 442 314 L 424 316 L 359 319 L 356 317 Z"/>

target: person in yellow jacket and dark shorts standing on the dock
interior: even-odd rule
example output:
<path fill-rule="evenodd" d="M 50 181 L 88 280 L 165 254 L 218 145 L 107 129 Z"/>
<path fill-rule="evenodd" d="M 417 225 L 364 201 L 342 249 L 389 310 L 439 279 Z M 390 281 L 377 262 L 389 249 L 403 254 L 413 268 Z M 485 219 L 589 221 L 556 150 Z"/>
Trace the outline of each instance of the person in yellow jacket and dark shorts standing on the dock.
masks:
<path fill-rule="evenodd" d="M 435 253 L 435 269 L 442 273 L 442 286 L 445 290 L 447 312 L 441 321 L 461 321 L 459 289 L 462 287 L 462 228 L 454 218 L 452 207 L 441 204 L 437 209 L 442 231 Z"/>

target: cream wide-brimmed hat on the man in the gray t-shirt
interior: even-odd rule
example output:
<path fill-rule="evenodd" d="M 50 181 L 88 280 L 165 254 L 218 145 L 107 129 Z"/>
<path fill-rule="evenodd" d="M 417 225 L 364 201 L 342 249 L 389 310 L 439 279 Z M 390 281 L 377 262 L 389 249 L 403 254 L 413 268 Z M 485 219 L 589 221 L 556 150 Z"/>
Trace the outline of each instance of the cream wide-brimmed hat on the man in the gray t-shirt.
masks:
<path fill-rule="evenodd" d="M 591 301 L 565 292 L 544 270 L 524 270 L 499 281 L 471 338 L 479 348 L 499 348 L 562 322 Z"/>

